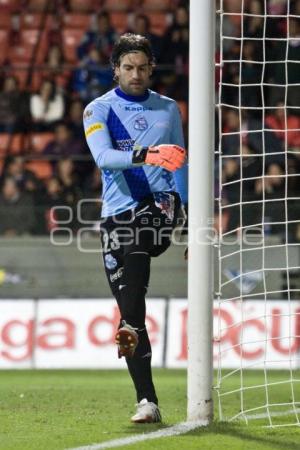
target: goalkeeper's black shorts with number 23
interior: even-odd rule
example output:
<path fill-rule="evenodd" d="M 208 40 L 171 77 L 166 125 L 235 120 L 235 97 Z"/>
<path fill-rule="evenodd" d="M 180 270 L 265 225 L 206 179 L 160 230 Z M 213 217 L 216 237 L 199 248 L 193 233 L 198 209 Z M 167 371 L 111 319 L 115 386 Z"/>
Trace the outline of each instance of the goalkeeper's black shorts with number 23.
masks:
<path fill-rule="evenodd" d="M 133 210 L 101 219 L 103 263 L 113 293 L 120 284 L 126 254 L 144 252 L 155 257 L 170 246 L 172 231 L 180 221 L 180 205 L 176 192 L 159 192 Z"/>

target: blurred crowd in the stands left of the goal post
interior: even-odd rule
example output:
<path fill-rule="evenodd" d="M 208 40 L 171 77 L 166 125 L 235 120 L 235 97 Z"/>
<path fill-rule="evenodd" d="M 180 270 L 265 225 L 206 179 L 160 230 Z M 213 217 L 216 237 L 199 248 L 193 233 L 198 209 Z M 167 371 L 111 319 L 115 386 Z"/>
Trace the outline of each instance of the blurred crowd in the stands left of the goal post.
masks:
<path fill-rule="evenodd" d="M 81 208 L 85 221 L 100 218 L 101 177 L 87 148 L 82 113 L 114 86 L 110 53 L 119 34 L 150 39 L 157 64 L 151 88 L 178 101 L 187 129 L 188 2 L 92 1 L 92 11 L 82 10 L 88 1 L 44 2 L 41 11 L 37 5 L 30 11 L 35 2 L 23 3 L 23 12 L 11 13 L 14 47 L 22 48 L 25 3 L 32 21 L 49 24 L 40 31 L 39 42 L 46 43 L 42 55 L 36 47 L 20 68 L 8 51 L 0 72 L 0 234 L 47 234 L 60 222 L 76 233 L 79 200 L 91 200 Z M 123 22 L 114 26 L 116 17 Z M 75 42 L 69 43 L 68 33 Z"/>

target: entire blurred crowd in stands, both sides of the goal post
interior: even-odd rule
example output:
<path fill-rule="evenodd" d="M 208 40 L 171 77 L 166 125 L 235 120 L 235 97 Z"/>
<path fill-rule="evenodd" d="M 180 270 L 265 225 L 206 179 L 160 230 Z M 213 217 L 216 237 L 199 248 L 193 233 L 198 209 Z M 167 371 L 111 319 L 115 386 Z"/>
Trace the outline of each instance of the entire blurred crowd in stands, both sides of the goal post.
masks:
<path fill-rule="evenodd" d="M 101 177 L 85 142 L 82 112 L 114 86 L 109 57 L 119 34 L 131 31 L 150 39 L 157 63 L 151 88 L 177 100 L 187 141 L 189 2 L 17 3 L 22 9 L 7 13 L 11 50 L 1 53 L 0 234 L 46 234 L 66 216 L 76 233 L 78 201 L 95 200 L 84 208 L 91 222 L 99 219 L 101 206 Z M 274 222 L 270 232 L 283 233 L 275 222 L 288 216 L 295 224 L 293 239 L 300 238 L 299 207 L 292 200 L 299 196 L 300 173 L 300 2 L 217 0 L 217 10 L 221 7 L 215 147 L 223 231 Z M 30 28 L 24 11 L 37 25 Z M 0 19 L 0 50 L 1 27 Z M 33 29 L 27 55 L 23 41 Z M 276 198 L 282 201 L 274 203 Z M 249 203 L 242 212 L 241 201 Z"/>

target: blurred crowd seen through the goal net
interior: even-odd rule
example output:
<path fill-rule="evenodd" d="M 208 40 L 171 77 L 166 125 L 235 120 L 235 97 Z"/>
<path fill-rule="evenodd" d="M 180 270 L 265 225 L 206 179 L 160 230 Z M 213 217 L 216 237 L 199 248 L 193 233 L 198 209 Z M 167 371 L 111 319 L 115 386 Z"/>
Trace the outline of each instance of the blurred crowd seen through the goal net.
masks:
<path fill-rule="evenodd" d="M 223 232 L 263 227 L 299 241 L 300 2 L 222 3 L 225 14 L 218 15 L 216 30 L 216 61 L 222 63 L 216 73 L 217 163 L 222 157 L 216 197 Z"/>

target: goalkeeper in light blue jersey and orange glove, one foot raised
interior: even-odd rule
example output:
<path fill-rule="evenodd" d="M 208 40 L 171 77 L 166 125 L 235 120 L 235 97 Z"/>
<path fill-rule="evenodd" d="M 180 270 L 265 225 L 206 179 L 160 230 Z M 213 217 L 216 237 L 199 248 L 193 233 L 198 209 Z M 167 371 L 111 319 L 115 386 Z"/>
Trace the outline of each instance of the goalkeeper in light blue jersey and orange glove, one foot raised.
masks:
<path fill-rule="evenodd" d="M 159 422 L 145 325 L 150 261 L 170 245 L 187 201 L 181 117 L 174 100 L 148 89 L 154 67 L 149 41 L 125 34 L 111 62 L 118 87 L 84 111 L 85 135 L 102 170 L 101 241 L 110 288 L 121 315 L 116 332 L 137 394 L 133 422 Z"/>

